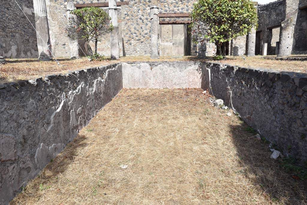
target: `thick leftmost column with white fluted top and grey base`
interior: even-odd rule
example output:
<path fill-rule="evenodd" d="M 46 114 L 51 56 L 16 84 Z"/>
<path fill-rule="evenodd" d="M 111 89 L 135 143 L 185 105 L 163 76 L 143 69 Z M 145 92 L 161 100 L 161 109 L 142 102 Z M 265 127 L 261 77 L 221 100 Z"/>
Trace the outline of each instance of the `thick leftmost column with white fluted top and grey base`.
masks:
<path fill-rule="evenodd" d="M 37 48 L 38 59 L 48 61 L 51 60 L 49 25 L 47 19 L 47 7 L 45 0 L 33 0 L 35 13 L 35 28 L 38 32 Z"/>

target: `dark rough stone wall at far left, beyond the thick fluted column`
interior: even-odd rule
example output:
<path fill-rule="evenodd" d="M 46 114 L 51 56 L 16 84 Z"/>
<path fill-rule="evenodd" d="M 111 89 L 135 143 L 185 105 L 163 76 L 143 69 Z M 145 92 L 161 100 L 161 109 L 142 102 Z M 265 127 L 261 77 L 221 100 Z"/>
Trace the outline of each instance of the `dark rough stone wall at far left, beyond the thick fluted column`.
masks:
<path fill-rule="evenodd" d="M 18 0 L 35 27 L 33 0 Z M 7 58 L 37 58 L 36 32 L 15 1 L 1 1 L 0 46 Z"/>

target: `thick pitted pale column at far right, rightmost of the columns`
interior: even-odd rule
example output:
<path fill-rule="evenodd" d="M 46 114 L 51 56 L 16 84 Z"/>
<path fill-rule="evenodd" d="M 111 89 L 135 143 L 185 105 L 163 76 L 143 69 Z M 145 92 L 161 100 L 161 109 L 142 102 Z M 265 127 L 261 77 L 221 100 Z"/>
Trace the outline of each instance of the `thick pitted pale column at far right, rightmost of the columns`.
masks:
<path fill-rule="evenodd" d="M 286 19 L 282 21 L 278 56 L 289 56 L 292 53 L 297 10 L 298 0 L 286 0 Z"/>

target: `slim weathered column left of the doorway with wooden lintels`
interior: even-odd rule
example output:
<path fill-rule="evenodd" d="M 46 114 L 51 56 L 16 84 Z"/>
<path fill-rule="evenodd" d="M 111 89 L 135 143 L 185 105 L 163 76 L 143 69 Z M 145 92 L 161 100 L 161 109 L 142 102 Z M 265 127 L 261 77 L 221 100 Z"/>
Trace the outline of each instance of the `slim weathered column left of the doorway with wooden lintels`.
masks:
<path fill-rule="evenodd" d="M 158 32 L 159 32 L 159 9 L 157 6 L 150 7 L 151 20 L 151 58 L 159 58 Z"/>

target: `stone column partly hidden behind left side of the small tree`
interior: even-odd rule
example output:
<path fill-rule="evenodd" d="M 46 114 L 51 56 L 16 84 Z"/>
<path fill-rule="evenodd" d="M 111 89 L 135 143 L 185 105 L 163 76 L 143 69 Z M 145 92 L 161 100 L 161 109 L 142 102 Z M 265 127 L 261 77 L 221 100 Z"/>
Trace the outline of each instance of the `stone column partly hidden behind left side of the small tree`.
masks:
<path fill-rule="evenodd" d="M 70 12 L 75 10 L 75 4 L 72 0 L 70 0 L 67 3 L 67 20 L 68 20 L 68 26 L 71 26 L 70 24 L 71 19 L 76 18 L 75 14 L 71 14 Z M 72 40 L 71 38 L 69 38 L 69 47 L 70 47 L 70 59 L 76 59 L 76 58 L 80 58 L 79 57 L 79 46 L 78 46 L 78 40 Z"/>

